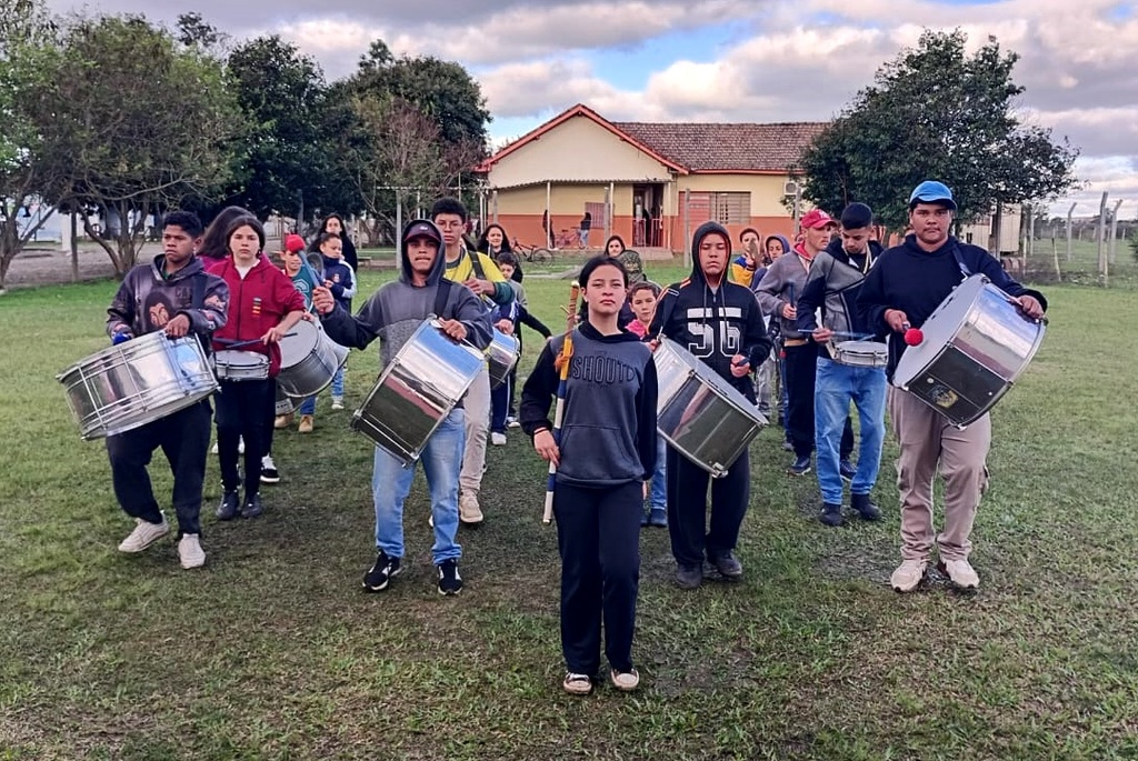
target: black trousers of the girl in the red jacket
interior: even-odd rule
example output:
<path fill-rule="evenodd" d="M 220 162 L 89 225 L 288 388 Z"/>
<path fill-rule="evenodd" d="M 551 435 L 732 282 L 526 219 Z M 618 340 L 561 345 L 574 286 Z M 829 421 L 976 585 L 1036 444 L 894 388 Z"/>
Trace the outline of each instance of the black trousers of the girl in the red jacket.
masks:
<path fill-rule="evenodd" d="M 245 437 L 245 498 L 261 489 L 261 458 L 269 442 L 272 421 L 265 414 L 275 398 L 277 381 L 265 380 L 221 381 L 214 397 L 217 411 L 217 460 L 221 463 L 221 482 L 225 491 L 241 486 L 237 470 L 238 440 Z"/>

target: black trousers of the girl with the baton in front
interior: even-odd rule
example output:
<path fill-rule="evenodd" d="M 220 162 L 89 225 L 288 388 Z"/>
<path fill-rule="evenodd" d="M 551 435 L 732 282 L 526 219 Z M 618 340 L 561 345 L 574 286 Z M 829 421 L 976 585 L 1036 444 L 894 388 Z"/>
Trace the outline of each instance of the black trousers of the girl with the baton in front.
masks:
<path fill-rule="evenodd" d="M 602 620 L 609 664 L 633 668 L 643 489 L 638 481 L 603 489 L 556 485 L 561 650 L 574 673 L 600 670 Z"/>

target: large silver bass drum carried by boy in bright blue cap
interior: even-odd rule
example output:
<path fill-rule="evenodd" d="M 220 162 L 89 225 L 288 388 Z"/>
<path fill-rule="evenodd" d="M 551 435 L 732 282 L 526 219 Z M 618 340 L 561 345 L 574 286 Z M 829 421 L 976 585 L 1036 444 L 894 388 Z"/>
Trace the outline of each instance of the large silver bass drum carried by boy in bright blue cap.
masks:
<path fill-rule="evenodd" d="M 893 386 L 964 428 L 1012 388 L 1044 340 L 1045 320 L 975 274 L 921 325 L 924 340 L 905 349 Z"/>

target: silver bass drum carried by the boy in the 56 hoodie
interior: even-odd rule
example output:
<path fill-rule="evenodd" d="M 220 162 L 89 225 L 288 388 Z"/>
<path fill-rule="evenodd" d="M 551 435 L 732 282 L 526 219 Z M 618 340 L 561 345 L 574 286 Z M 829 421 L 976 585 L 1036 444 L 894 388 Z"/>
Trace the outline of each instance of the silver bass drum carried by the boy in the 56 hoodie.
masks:
<path fill-rule="evenodd" d="M 679 454 L 723 478 L 767 424 L 754 405 L 670 339 L 655 350 L 657 428 Z"/>

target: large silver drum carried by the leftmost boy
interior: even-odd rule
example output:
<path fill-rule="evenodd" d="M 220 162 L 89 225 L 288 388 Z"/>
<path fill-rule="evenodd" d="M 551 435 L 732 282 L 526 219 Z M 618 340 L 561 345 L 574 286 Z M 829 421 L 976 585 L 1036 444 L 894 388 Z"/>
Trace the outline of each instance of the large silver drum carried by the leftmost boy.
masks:
<path fill-rule="evenodd" d="M 83 439 L 117 436 L 205 399 L 217 389 L 198 339 L 147 333 L 102 349 L 56 377 Z"/>

